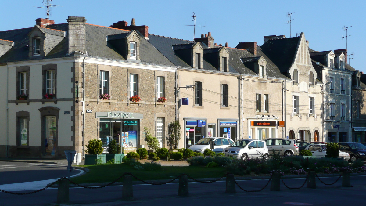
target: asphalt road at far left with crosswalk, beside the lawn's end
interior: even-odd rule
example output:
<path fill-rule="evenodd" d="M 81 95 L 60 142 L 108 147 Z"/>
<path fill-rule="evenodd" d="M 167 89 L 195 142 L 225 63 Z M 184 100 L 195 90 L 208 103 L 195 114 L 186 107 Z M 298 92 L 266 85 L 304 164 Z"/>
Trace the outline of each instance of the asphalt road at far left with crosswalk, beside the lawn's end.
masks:
<path fill-rule="evenodd" d="M 0 185 L 65 177 L 66 167 L 59 164 L 0 161 Z M 79 172 L 74 170 L 71 175 Z"/>

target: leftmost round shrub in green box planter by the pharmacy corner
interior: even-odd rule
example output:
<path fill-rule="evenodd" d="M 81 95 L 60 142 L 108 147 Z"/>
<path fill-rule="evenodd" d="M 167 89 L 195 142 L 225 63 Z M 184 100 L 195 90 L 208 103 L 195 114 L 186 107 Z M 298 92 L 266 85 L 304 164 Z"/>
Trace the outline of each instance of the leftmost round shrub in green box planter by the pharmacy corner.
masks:
<path fill-rule="evenodd" d="M 102 154 L 103 152 L 103 142 L 102 140 L 92 139 L 89 140 L 86 145 L 86 152 L 88 154 L 85 155 L 85 165 L 96 165 L 97 159 L 99 159 L 100 163 L 106 162 L 106 155 Z"/>

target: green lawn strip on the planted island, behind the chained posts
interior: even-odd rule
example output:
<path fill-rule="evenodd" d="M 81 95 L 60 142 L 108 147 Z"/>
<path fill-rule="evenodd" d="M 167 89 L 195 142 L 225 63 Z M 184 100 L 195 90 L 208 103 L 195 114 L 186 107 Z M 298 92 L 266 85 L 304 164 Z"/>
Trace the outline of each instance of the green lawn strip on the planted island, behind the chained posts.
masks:
<path fill-rule="evenodd" d="M 136 170 L 130 165 L 86 165 L 89 172 L 71 180 L 76 183 L 108 183 L 116 180 L 125 172 L 130 172 L 142 180 L 169 180 L 186 173 L 193 178 L 222 177 L 226 173 L 223 167 L 205 168 L 203 166 L 162 166 L 160 170 L 142 171 Z M 123 181 L 123 179 L 119 180 Z"/>

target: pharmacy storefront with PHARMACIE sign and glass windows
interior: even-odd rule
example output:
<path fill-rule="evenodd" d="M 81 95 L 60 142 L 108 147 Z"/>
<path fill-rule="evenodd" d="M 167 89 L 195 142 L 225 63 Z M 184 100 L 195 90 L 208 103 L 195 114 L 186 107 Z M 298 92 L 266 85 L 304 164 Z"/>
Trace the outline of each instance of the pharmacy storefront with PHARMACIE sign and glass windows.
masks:
<path fill-rule="evenodd" d="M 136 150 L 139 143 L 139 128 L 143 114 L 124 111 L 97 112 L 99 139 L 103 142 L 103 153 L 108 153 L 108 143 L 116 140 L 123 150 Z"/>

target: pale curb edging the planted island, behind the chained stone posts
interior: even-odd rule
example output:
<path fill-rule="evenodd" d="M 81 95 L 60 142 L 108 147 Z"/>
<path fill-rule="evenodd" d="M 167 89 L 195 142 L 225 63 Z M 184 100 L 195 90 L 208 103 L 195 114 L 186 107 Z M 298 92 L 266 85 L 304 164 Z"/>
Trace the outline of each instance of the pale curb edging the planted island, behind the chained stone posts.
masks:
<path fill-rule="evenodd" d="M 77 168 L 77 169 L 79 169 L 79 168 Z M 87 169 L 87 168 L 85 168 L 85 169 Z M 338 174 L 338 173 L 337 174 L 318 174 L 318 177 L 339 177 L 339 175 L 340 174 Z M 351 173 L 350 176 L 352 177 L 352 176 L 360 176 L 360 175 L 366 175 L 366 172 Z M 235 180 L 237 180 L 237 181 L 238 180 L 269 180 L 269 177 L 270 176 L 235 177 Z M 300 174 L 300 175 L 295 174 L 295 175 L 284 175 L 284 176 L 282 176 L 282 179 L 306 178 L 306 177 L 307 177 L 307 174 Z M 196 179 L 196 180 L 199 180 L 199 181 L 213 181 L 213 180 L 217 180 L 217 178 L 199 178 L 199 179 Z M 221 180 L 226 180 L 226 177 L 224 177 Z M 160 183 L 165 183 L 165 182 L 170 181 L 170 180 L 146 180 L 146 181 L 148 181 L 149 183 L 160 184 Z M 198 182 L 198 181 L 188 179 L 188 182 Z M 171 183 L 179 183 L 179 179 L 176 179 L 176 180 L 172 181 Z M 100 186 L 103 186 L 103 185 L 106 185 L 106 184 L 109 184 L 109 183 L 86 183 L 86 184 L 82 184 L 82 185 L 86 186 L 86 187 L 100 187 Z M 143 183 L 141 181 L 132 181 L 132 185 L 141 185 L 141 184 L 146 184 L 146 183 Z M 116 182 L 116 183 L 113 183 L 112 185 L 123 185 L 123 182 Z M 51 187 L 58 187 L 58 184 L 54 184 Z M 74 184 L 70 184 L 69 187 L 79 187 L 79 186 L 76 186 Z"/>

